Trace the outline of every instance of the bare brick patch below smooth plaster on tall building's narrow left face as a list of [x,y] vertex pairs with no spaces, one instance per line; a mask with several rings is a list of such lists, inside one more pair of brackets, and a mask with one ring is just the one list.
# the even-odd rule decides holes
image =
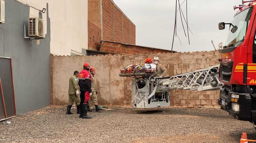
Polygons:
[[99,50],[101,40],[101,29],[88,21],[88,49]]

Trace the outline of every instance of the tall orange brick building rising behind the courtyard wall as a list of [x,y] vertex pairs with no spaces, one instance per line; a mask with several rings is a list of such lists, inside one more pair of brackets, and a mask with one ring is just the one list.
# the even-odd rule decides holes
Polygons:
[[[101,13],[100,7],[102,7],[102,27],[101,27]],[[95,24],[102,30],[102,37],[100,40],[114,41],[119,43],[136,44],[136,26],[133,22],[118,8],[118,6],[112,0],[88,0],[88,21]],[[95,35],[90,35],[91,28],[96,28],[94,25],[90,26],[88,23],[89,40]],[[102,29],[101,29],[102,28]],[[96,28],[95,31],[98,31]],[[93,32],[93,31],[92,31]],[[101,32],[101,31],[100,31]],[[101,35],[101,33],[100,33]],[[98,44],[99,40],[88,42],[88,49],[96,50],[93,44]]]

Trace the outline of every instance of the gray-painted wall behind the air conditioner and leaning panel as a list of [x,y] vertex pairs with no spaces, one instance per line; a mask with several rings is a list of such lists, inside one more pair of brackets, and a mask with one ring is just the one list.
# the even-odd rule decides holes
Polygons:
[[37,40],[24,39],[29,13],[29,6],[6,0],[5,24],[0,25],[0,56],[12,58],[17,114],[50,104],[50,18],[46,39],[37,45]]

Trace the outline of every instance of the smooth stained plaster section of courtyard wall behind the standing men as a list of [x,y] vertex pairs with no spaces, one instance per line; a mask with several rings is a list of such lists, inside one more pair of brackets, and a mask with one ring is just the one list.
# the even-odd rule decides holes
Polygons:
[[123,55],[106,56],[51,56],[51,103],[68,103],[69,78],[74,71],[81,71],[87,62],[96,69],[98,103],[107,105],[125,104],[123,97],[124,78],[119,69],[124,67]]

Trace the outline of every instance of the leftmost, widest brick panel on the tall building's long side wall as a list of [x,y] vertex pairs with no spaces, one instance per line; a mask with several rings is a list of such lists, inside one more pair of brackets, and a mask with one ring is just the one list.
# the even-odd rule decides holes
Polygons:
[[114,4],[102,0],[102,40],[114,41]]

